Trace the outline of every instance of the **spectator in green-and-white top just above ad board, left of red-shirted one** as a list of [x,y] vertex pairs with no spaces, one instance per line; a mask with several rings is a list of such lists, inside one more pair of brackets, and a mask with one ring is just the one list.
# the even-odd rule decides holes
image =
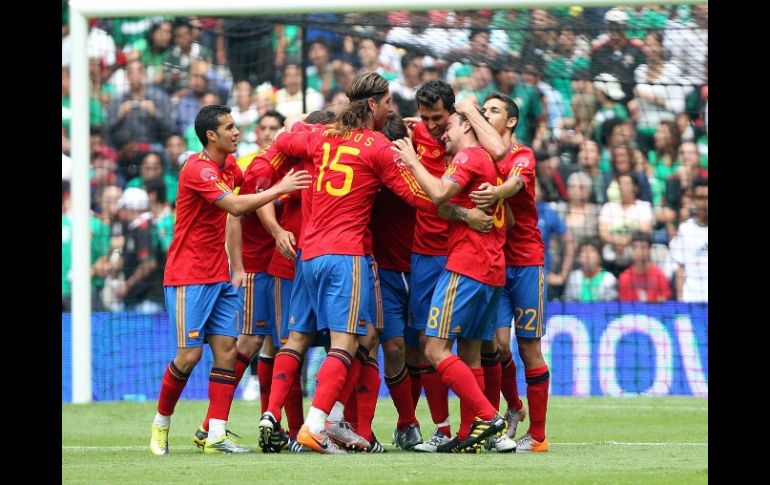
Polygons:
[[597,241],[584,242],[578,249],[580,268],[570,273],[564,292],[566,301],[614,301],[618,298],[617,279],[601,267]]

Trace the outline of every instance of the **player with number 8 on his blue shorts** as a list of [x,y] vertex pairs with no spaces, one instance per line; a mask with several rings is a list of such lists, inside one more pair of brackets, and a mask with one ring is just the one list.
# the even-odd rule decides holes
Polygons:
[[[482,183],[502,182],[497,166],[462,115],[449,117],[442,139],[454,158],[440,179],[420,163],[411,140],[396,141],[393,150],[435,204],[452,199],[458,205],[473,207],[468,197],[471,191]],[[433,292],[426,324],[425,356],[442,382],[460,397],[460,431],[446,445],[455,452],[476,452],[488,438],[505,431],[505,420],[482,391],[480,357],[481,341],[492,337],[497,302],[505,284],[502,204],[493,213],[494,227],[487,234],[449,224],[447,263]],[[455,340],[460,357],[452,354]]]

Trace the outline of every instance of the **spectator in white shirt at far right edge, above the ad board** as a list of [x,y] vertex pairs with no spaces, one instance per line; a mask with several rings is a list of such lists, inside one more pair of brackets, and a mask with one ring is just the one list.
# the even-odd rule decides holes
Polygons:
[[693,181],[695,217],[680,224],[671,241],[671,258],[678,265],[675,282],[679,301],[708,302],[708,188],[708,179]]

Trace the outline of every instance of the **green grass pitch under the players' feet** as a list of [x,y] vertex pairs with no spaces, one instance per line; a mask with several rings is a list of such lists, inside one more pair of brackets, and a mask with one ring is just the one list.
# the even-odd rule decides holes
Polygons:
[[[309,401],[305,401],[305,412]],[[228,428],[257,447],[259,402],[236,401]],[[65,484],[506,484],[707,483],[708,399],[686,397],[551,397],[548,453],[419,454],[390,445],[396,413],[380,399],[374,432],[386,454],[315,453],[203,455],[192,435],[203,401],[183,400],[172,418],[170,453],[150,453],[155,403],[62,405]],[[456,430],[459,402],[450,399]],[[418,406],[423,436],[433,432],[425,398]],[[285,418],[284,418],[285,424]],[[519,427],[526,432],[528,420]]]

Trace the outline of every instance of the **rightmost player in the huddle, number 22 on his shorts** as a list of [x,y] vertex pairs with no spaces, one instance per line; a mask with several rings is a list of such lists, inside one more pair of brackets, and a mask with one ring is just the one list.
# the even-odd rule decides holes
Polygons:
[[[472,103],[464,104],[458,105],[457,109],[464,112],[475,109],[475,106]],[[506,281],[500,299],[495,339],[482,346],[482,358],[487,363],[485,371],[490,375],[497,372],[501,375],[499,380],[494,377],[487,379],[487,397],[493,405],[499,404],[502,390],[508,404],[505,413],[508,425],[506,434],[514,438],[518,423],[524,420],[527,411],[519,399],[516,367],[510,350],[510,326],[513,321],[519,355],[524,362],[530,410],[530,427],[517,440],[516,452],[548,451],[545,418],[550,373],[540,350],[540,339],[545,335],[546,285],[543,271],[544,245],[537,228],[535,207],[535,158],[530,148],[512,142],[511,136],[519,120],[519,110],[511,98],[492,93],[484,100],[483,112],[502,138],[508,153],[499,162],[500,171],[506,180],[498,186],[483,184],[470,197],[481,208],[492,207],[500,200],[507,200],[516,221],[508,230],[505,243]],[[496,369],[498,360],[501,361],[500,371]],[[498,382],[500,387],[497,387]]]

